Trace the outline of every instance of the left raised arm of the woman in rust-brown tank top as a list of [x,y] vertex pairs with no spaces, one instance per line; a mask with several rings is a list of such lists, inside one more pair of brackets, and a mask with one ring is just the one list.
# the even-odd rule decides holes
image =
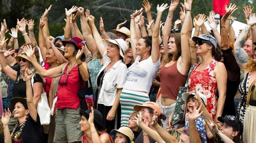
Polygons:
[[168,57],[168,40],[169,40],[168,38],[171,34],[173,14],[174,14],[178,4],[179,4],[179,0],[171,1],[169,11],[168,11],[168,16],[167,16],[165,24],[164,24],[163,45],[164,45],[165,57]]

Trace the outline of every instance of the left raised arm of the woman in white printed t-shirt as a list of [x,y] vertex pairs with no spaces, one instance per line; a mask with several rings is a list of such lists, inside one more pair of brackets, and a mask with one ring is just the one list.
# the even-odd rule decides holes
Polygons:
[[135,29],[135,17],[142,12],[143,8],[140,10],[136,10],[135,13],[131,15],[131,24],[130,24],[130,32],[131,32],[131,47],[133,50],[133,59],[136,59],[136,44],[137,44],[137,34]]

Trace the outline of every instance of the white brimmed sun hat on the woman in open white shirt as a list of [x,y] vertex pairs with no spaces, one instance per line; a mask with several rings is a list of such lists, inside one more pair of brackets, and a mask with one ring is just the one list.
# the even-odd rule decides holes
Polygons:
[[104,40],[105,47],[108,47],[109,43],[118,45],[118,47],[120,49],[120,56],[123,58],[123,61],[125,61],[125,57],[123,55],[128,50],[125,40],[123,40],[123,39],[114,39],[114,40],[106,39],[106,40]]

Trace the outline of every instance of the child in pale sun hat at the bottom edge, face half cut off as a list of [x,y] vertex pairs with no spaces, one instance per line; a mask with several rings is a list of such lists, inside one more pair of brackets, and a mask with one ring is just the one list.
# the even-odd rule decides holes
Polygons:
[[110,134],[114,143],[133,143],[134,134],[129,127],[120,127],[118,130],[112,130]]

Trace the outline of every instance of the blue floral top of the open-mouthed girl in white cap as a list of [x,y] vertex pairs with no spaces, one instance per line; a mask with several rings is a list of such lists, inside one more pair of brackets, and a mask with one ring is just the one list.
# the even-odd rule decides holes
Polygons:
[[[188,113],[189,115],[189,113]],[[187,117],[185,121],[185,130],[189,131],[189,118]],[[207,143],[206,139],[206,129],[204,128],[204,117],[200,116],[196,119],[196,130],[200,136],[202,143]]]

